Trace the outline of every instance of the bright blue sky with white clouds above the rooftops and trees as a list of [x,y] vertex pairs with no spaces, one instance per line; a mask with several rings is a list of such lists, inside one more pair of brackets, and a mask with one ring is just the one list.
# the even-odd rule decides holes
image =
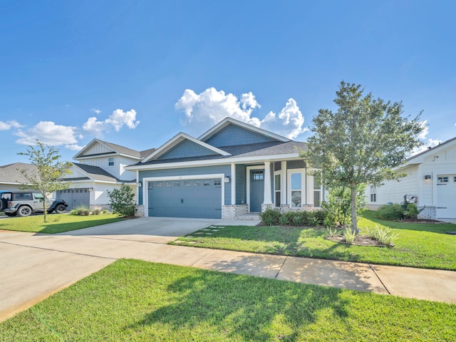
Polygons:
[[[146,150],[227,115],[304,141],[343,80],[456,136],[455,1],[0,0],[0,165]],[[287,124],[288,123],[288,124]]]

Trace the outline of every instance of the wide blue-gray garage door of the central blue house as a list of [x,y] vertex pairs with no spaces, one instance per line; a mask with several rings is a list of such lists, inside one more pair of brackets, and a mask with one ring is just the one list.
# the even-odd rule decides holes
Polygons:
[[222,180],[148,182],[149,216],[222,218]]

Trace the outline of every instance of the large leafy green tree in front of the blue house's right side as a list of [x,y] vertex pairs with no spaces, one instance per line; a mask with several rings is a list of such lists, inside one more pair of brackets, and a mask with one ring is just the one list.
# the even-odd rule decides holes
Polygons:
[[358,229],[356,192],[358,185],[381,185],[399,180],[393,168],[405,162],[415,147],[423,145],[418,136],[425,125],[403,115],[403,104],[363,95],[363,88],[341,82],[334,103],[337,111],[321,109],[313,119],[307,150],[301,157],[323,185],[348,187],[351,192],[351,229]]

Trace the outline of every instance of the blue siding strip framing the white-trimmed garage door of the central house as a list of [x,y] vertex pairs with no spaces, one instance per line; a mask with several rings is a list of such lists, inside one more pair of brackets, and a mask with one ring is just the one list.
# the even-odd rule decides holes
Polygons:
[[[144,170],[139,172],[139,182],[142,182],[143,178],[149,177],[175,177],[175,176],[197,176],[197,175],[214,175],[224,174],[225,176],[231,175],[231,165],[215,165],[206,167],[182,167],[175,169],[166,170]],[[223,180],[222,180],[223,182]],[[144,182],[143,182],[144,183]],[[225,183],[225,204],[231,204],[231,182]],[[145,186],[145,184],[143,184]],[[138,204],[142,204],[142,191],[139,192]]]

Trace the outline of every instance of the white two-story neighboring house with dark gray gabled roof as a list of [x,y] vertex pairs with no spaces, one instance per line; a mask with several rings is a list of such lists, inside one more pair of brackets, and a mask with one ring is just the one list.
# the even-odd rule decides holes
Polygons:
[[78,163],[73,163],[71,175],[63,179],[71,181],[70,189],[58,191],[56,196],[66,200],[68,209],[107,207],[108,191],[123,183],[136,193],[136,173],[125,170],[125,166],[140,162],[153,150],[137,151],[94,139],[73,157]]

